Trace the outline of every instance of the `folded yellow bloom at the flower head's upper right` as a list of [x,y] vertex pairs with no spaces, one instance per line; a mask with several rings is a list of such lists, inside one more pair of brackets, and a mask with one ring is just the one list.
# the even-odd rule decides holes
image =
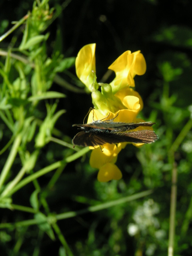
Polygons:
[[115,72],[116,77],[110,83],[112,91],[117,92],[125,86],[135,86],[134,76],[146,72],[145,58],[140,51],[126,51],[120,55],[109,67]]

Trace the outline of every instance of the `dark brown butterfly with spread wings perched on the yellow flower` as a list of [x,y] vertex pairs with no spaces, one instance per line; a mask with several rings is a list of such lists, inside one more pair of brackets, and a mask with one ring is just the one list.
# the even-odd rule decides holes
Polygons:
[[[108,116],[106,116],[107,118]],[[158,139],[153,130],[134,130],[139,126],[150,127],[153,122],[123,123],[110,120],[97,120],[89,124],[73,124],[82,130],[74,136],[72,143],[77,146],[98,146],[105,143],[116,144],[120,142],[152,143]]]

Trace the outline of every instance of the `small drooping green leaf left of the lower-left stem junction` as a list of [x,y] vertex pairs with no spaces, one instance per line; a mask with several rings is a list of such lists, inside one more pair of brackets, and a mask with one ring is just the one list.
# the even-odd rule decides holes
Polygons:
[[38,222],[42,222],[38,224],[40,230],[43,230],[52,240],[55,240],[54,232],[51,225],[47,221],[46,215],[44,215],[42,212],[38,212],[35,214],[35,219],[38,220]]

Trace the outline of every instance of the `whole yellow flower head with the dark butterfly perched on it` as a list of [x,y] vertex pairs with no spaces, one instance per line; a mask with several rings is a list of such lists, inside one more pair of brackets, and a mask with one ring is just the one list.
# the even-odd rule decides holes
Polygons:
[[[88,123],[96,120],[106,122],[114,118],[112,122],[137,123],[143,120],[136,118],[138,112],[143,108],[141,96],[130,87],[134,87],[134,76],[146,72],[146,62],[140,51],[126,51],[120,55],[110,66],[116,74],[110,84],[97,83],[95,64],[96,44],[84,46],[76,58],[76,74],[78,78],[92,92],[92,110],[88,116]],[[100,86],[101,90],[98,90]],[[106,117],[107,116],[107,117]],[[134,130],[152,129],[151,127],[138,127]],[[119,180],[122,173],[115,165],[117,156],[127,142],[118,144],[104,144],[101,147],[90,147],[90,166],[98,168],[98,180],[106,182]],[[143,143],[134,146],[141,146]]]

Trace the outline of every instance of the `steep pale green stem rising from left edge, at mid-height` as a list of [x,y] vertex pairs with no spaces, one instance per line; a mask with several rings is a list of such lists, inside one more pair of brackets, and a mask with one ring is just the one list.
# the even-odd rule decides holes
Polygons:
[[10,154],[6,160],[6,163],[4,165],[4,168],[0,174],[0,189],[2,187],[2,185],[4,184],[4,181],[10,171],[10,168],[14,162],[14,159],[16,157],[16,154],[18,152],[18,148],[20,146],[20,143],[21,143],[21,139],[22,139],[22,136],[21,134],[18,134],[13,142],[13,145],[12,145],[12,148],[11,148],[11,151],[10,151]]

